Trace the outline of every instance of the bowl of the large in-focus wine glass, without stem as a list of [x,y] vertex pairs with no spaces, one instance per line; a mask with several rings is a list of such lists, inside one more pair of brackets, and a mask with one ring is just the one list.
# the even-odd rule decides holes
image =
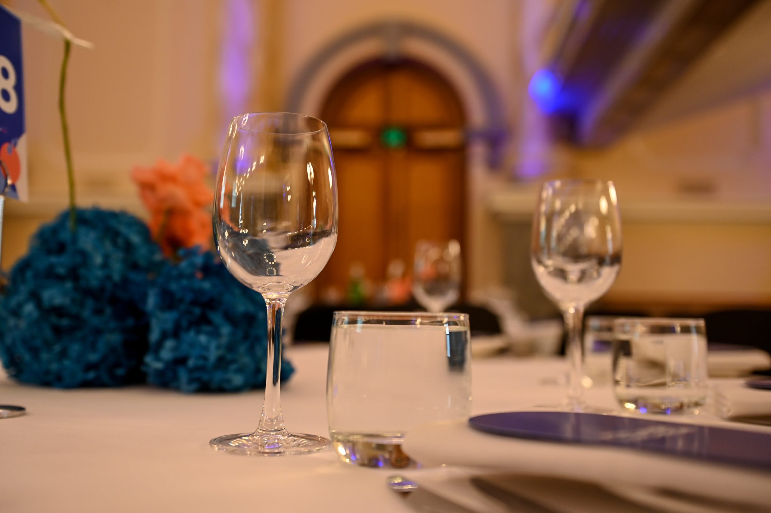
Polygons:
[[[293,190],[294,188],[294,190]],[[228,270],[263,294],[311,282],[337,241],[332,147],[310,116],[258,113],[231,124],[214,228]]]

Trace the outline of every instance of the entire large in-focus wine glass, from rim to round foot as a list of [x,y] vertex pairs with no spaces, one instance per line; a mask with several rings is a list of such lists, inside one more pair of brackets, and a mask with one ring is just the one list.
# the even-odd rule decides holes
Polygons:
[[321,451],[327,438],[284,428],[279,386],[284,304],[322,271],[337,241],[335,161],[326,124],[292,113],[236,116],[217,172],[214,231],[227,269],[268,306],[268,376],[257,430],[210,444],[250,455]]

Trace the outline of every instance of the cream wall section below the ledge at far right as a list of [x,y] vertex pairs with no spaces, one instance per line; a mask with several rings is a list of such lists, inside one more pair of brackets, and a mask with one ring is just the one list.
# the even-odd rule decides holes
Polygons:
[[626,223],[621,273],[605,299],[681,310],[769,305],[771,224]]

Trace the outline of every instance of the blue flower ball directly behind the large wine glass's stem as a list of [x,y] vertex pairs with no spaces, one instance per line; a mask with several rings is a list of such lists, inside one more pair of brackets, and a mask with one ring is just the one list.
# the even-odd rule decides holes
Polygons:
[[[235,392],[265,385],[268,323],[264,299],[237,282],[210,252],[180,252],[147,300],[147,380],[183,392]],[[294,368],[281,362],[281,381]]]

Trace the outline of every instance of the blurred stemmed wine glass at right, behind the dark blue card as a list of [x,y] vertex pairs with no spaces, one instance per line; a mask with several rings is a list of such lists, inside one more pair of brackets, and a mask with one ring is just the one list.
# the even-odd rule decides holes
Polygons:
[[621,216],[613,182],[545,183],[533,219],[530,263],[565,319],[570,363],[565,407],[589,410],[581,385],[584,309],[608,292],[621,268]]

